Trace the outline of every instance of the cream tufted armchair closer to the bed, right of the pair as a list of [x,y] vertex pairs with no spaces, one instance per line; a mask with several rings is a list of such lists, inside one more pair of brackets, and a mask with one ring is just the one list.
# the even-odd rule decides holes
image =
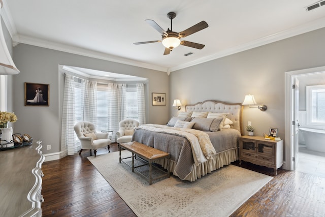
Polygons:
[[131,142],[134,129],[139,127],[139,121],[135,119],[124,119],[119,122],[119,130],[116,132],[117,143]]

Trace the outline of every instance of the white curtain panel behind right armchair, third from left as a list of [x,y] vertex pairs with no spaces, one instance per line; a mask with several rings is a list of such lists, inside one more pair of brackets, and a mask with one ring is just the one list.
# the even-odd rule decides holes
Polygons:
[[[125,93],[126,84],[108,84],[108,108],[109,108],[109,126],[108,128],[117,132],[118,123],[125,119]],[[116,140],[113,133],[112,141]]]

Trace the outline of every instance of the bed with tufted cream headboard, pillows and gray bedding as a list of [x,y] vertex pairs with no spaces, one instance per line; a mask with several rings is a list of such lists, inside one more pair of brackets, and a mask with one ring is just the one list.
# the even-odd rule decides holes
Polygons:
[[[206,100],[186,105],[185,112],[172,117],[167,126],[140,126],[132,141],[170,153],[170,171],[182,180],[195,181],[238,160],[241,114],[241,103]],[[156,163],[165,169],[168,165],[165,159]]]

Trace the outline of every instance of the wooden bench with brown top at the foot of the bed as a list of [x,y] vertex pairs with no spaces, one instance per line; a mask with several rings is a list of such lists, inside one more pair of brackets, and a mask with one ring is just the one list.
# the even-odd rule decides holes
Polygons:
[[[125,149],[128,150],[130,152],[132,152],[132,157],[127,157],[127,158],[121,158],[121,150]],[[169,172],[169,158],[170,158],[170,154],[158,149],[155,149],[153,147],[149,147],[145,144],[142,144],[140,142],[127,142],[127,143],[120,143],[119,144],[119,152],[120,152],[120,158],[119,161],[120,163],[123,162],[126,165],[132,167],[132,172],[137,171],[139,174],[141,174],[143,177],[145,177],[148,181],[149,181],[149,185],[152,184],[153,180],[162,178],[162,177],[170,177],[170,172]],[[134,166],[134,160],[136,159],[136,157],[140,157],[140,160],[143,160],[146,164],[142,164],[140,166]],[[123,159],[128,159],[128,158],[132,158],[132,165],[127,164],[125,161],[122,161]],[[156,160],[160,160],[160,159],[167,159],[168,163],[167,163],[167,172],[162,170],[159,167],[156,167],[154,165],[152,165],[152,162],[156,161]],[[135,170],[135,168],[138,167],[143,167],[149,165],[149,178],[146,177],[144,174],[142,174],[140,171]],[[160,175],[158,177],[152,178],[152,167],[155,167],[156,169],[164,172],[165,174]]]

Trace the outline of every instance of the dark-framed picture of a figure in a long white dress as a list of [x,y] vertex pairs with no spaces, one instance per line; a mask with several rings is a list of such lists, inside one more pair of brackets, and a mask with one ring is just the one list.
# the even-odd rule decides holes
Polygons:
[[50,106],[50,85],[25,82],[25,106]]

